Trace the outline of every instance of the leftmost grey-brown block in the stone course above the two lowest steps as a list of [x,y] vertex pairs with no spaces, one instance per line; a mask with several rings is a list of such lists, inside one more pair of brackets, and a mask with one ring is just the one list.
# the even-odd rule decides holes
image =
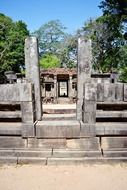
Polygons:
[[21,137],[0,137],[0,148],[25,148],[27,140]]

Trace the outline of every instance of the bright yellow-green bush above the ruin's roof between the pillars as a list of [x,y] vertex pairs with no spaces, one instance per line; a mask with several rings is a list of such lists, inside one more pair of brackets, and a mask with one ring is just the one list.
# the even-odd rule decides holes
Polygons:
[[45,54],[40,59],[40,66],[44,69],[60,67],[60,60],[57,58],[56,55]]

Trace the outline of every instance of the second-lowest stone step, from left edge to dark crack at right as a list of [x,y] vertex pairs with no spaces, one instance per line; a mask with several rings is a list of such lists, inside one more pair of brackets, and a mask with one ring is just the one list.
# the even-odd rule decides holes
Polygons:
[[101,151],[84,151],[79,149],[0,149],[0,157],[80,158],[101,156]]

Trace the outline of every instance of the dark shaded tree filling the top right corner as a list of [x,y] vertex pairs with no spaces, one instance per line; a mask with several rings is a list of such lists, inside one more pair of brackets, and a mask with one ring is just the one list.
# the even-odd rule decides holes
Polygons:
[[[103,11],[103,17],[106,18],[104,22],[110,34],[107,39],[110,44],[106,51],[109,60],[107,66],[126,73],[127,0],[103,0],[99,7]],[[125,75],[122,78],[125,79]]]

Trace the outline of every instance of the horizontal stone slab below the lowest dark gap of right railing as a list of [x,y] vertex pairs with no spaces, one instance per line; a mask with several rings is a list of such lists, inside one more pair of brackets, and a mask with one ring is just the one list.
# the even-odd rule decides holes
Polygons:
[[97,135],[127,135],[127,122],[96,122]]

